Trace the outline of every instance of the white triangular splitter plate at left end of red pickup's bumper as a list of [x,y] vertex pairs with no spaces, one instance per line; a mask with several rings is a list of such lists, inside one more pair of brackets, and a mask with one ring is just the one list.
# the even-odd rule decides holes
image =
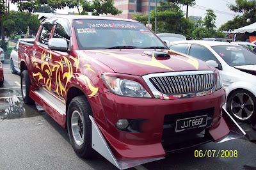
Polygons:
[[141,164],[153,162],[155,160],[161,160],[164,158],[141,158],[136,160],[124,160],[116,158],[115,155],[113,155],[111,149],[109,148],[108,143],[104,139],[104,136],[100,132],[100,129],[97,126],[96,122],[93,120],[93,117],[89,116],[89,118],[92,121],[92,148],[100,153],[102,157],[106,158],[114,166],[118,167],[118,169],[127,169],[129,167],[139,166]]

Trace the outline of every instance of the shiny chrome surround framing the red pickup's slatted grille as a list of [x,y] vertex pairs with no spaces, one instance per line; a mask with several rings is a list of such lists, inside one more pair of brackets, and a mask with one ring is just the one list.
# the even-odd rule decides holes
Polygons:
[[[207,79],[207,77],[209,77],[209,79]],[[160,98],[160,99],[200,97],[204,95],[210,95],[216,89],[214,85],[214,83],[216,82],[215,76],[212,70],[151,73],[151,74],[142,76],[142,78],[147,83],[154,97]],[[163,91],[163,93],[156,89],[156,87],[154,86],[154,84],[152,84],[150,79],[152,79],[152,82],[154,82],[157,88]],[[189,86],[189,84],[191,84],[192,87]],[[209,88],[212,87],[212,88],[209,89],[206,87],[209,87]],[[207,89],[207,90],[204,90],[204,89]],[[165,94],[166,91],[173,94]]]

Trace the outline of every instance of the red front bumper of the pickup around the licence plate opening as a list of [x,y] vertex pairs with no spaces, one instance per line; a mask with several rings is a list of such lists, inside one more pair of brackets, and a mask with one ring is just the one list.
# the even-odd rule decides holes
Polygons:
[[[106,124],[102,123],[102,118],[100,121],[95,118],[95,121],[117,158],[164,157],[166,151],[162,142],[166,115],[212,108],[212,120],[207,128],[207,134],[210,134],[211,140],[218,141],[229,133],[227,124],[220,116],[221,107],[225,102],[223,88],[204,97],[177,100],[120,97],[111,92],[103,93],[99,98],[102,110],[99,109],[99,105],[94,108],[92,104],[93,114],[95,111],[104,112]],[[145,120],[141,125],[142,132],[132,133],[118,130],[115,124],[121,118]],[[179,133],[176,134],[177,136],[179,137]]]

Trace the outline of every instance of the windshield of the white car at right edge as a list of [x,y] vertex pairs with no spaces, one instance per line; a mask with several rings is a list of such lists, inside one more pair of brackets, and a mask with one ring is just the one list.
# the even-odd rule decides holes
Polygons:
[[240,46],[212,47],[230,66],[256,65],[256,54]]

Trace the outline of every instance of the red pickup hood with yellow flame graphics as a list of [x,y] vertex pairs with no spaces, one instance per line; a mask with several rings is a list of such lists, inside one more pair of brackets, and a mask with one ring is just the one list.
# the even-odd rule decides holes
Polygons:
[[[160,51],[160,50],[158,50]],[[167,52],[166,50],[161,50]],[[147,75],[148,73],[214,70],[204,61],[182,53],[168,51],[170,58],[157,58],[148,49],[79,50],[79,56],[90,56],[109,66],[116,73]],[[147,53],[147,54],[145,54]],[[212,69],[211,69],[212,68]]]

